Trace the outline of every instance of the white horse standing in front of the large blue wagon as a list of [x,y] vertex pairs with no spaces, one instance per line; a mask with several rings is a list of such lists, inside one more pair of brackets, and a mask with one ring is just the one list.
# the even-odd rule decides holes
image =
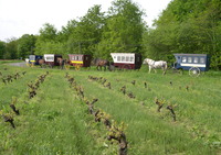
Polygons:
[[148,64],[149,65],[149,73],[151,71],[151,69],[155,70],[155,73],[157,73],[157,68],[161,68],[164,70],[164,75],[166,74],[166,70],[167,70],[167,62],[165,60],[158,60],[158,62],[155,62],[150,58],[145,58],[144,59],[144,63],[143,64]]

